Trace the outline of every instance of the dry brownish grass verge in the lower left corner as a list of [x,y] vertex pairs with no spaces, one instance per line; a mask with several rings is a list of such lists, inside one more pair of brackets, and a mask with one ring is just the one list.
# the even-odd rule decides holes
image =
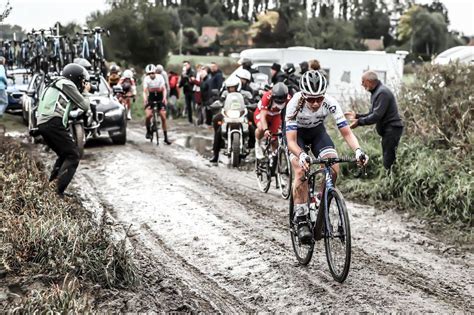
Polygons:
[[42,164],[18,142],[1,137],[0,149],[0,269],[6,287],[22,288],[3,292],[0,307],[84,312],[91,309],[89,288],[139,283],[125,239],[112,241],[105,222],[94,223],[77,200],[59,199]]

